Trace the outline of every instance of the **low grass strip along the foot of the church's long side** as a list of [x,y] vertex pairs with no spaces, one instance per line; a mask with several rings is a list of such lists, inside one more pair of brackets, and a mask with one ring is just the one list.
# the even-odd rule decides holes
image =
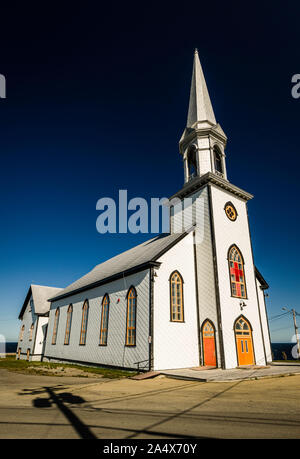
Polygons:
[[[136,371],[125,371],[114,368],[88,367],[84,365],[76,365],[73,363],[52,363],[52,362],[27,362],[27,360],[16,360],[14,356],[9,356],[0,359],[0,369],[15,371],[23,374],[39,374],[47,376],[72,376],[67,374],[68,368],[80,370],[81,374],[76,374],[78,377],[88,377],[85,373],[94,373],[103,378],[128,378],[137,374]],[[49,370],[60,370],[51,373]],[[65,374],[66,373],[66,374]]]

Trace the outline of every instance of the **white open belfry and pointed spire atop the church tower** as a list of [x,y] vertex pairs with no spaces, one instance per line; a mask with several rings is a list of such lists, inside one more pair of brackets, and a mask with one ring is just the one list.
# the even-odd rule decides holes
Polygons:
[[184,160],[185,183],[207,172],[227,179],[224,153],[226,142],[227,137],[215,118],[196,49],[187,124],[179,142],[179,151]]

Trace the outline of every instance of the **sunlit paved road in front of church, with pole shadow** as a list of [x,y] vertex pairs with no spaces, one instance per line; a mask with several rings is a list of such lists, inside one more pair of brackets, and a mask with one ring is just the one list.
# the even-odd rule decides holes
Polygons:
[[0,438],[300,438],[300,375],[82,380],[0,370]]

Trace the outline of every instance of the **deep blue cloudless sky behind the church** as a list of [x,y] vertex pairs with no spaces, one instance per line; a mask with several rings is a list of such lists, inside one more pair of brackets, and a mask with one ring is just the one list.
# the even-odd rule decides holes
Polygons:
[[[31,283],[66,286],[151,237],[100,235],[96,202],[119,189],[149,199],[181,188],[195,47],[228,136],[228,178],[255,195],[250,224],[271,286],[269,315],[300,312],[300,99],[291,97],[299,2],[207,3],[1,6],[0,333],[8,341]],[[291,325],[290,317],[271,322],[272,340],[290,341]]]

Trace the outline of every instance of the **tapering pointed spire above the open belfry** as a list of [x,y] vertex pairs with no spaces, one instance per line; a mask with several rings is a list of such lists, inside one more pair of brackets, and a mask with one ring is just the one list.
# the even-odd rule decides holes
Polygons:
[[217,124],[196,48],[187,127],[192,127],[197,121],[209,121],[212,124]]

